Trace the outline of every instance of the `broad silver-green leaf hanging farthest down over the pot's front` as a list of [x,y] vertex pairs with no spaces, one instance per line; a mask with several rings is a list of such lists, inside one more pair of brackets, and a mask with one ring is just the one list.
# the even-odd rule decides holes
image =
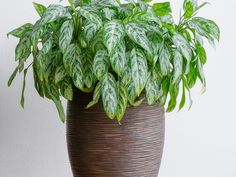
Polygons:
[[118,105],[118,94],[116,80],[110,73],[106,74],[103,79],[102,101],[107,116],[110,119],[114,119]]

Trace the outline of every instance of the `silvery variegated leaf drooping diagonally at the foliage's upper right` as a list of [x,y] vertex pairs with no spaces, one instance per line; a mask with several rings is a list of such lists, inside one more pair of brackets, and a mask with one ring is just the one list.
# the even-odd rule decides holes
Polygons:
[[190,62],[192,60],[193,54],[191,50],[191,46],[188,42],[188,40],[181,34],[175,32],[173,36],[173,43],[179,50],[179,52],[184,56],[184,58],[187,60],[187,66],[186,66],[186,73],[190,70]]

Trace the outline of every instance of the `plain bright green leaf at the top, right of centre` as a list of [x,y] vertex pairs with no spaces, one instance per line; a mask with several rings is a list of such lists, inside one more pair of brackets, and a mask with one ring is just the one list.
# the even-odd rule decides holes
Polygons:
[[172,12],[169,2],[155,3],[153,4],[152,9],[157,15],[160,16],[165,16]]

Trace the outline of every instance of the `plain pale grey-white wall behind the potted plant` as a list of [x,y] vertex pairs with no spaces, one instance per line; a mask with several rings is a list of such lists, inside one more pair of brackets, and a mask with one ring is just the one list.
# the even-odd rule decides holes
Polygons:
[[[34,90],[27,77],[26,108],[19,106],[22,76],[11,88],[17,40],[6,33],[34,22],[32,0],[0,2],[0,177],[72,177],[65,139],[54,105]],[[58,3],[59,0],[38,0]],[[206,45],[207,92],[193,92],[190,111],[166,115],[166,143],[159,177],[236,177],[236,1],[209,0],[200,15],[221,28],[217,49]],[[173,1],[176,19],[182,1]]]

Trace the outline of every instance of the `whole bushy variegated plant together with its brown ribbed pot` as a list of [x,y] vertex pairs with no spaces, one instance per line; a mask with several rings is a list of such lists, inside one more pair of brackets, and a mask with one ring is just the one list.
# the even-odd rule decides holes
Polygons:
[[175,23],[169,2],[34,3],[39,20],[8,34],[19,38],[8,85],[23,72],[21,105],[31,67],[37,92],[55,103],[62,122],[61,97],[68,100],[74,177],[157,176],[164,112],[182,109],[198,79],[205,88],[203,38],[213,45],[220,38],[215,22],[196,16],[205,5],[185,0]]

